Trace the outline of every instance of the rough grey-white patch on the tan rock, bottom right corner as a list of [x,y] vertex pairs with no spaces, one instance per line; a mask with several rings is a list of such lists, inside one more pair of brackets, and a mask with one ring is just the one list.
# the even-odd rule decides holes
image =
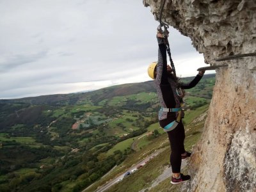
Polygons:
[[[256,135],[251,134],[249,120],[245,129],[235,132],[225,154],[224,173],[227,191],[256,189]],[[243,127],[244,128],[244,127]]]

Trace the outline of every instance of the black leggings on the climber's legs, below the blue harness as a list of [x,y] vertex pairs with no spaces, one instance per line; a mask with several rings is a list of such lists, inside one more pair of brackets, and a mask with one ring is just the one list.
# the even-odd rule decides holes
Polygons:
[[[160,125],[162,127],[164,125],[164,120],[161,120]],[[167,121],[166,121],[167,123]],[[166,124],[167,125],[167,124]],[[181,154],[186,152],[184,148],[184,140],[185,140],[185,129],[182,122],[180,122],[175,129],[172,131],[168,131],[168,138],[171,145],[171,155],[170,155],[170,163],[172,165],[173,173],[180,173],[181,166]]]

